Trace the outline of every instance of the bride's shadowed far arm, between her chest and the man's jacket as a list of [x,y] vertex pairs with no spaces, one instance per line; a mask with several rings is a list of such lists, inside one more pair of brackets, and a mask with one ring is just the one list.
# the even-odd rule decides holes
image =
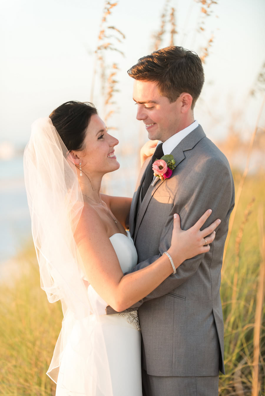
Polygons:
[[113,197],[106,194],[100,194],[102,201],[106,202],[111,212],[121,225],[127,229],[129,223],[129,214],[132,203],[132,198],[127,197]]

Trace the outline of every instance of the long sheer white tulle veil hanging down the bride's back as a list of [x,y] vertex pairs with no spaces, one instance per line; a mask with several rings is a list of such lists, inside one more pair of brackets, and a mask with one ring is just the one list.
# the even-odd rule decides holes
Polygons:
[[[83,282],[83,263],[74,238],[83,196],[77,169],[48,117],[32,125],[24,153],[24,174],[40,284],[50,303],[61,300],[64,315],[47,374],[57,382],[59,370],[65,370],[65,394],[109,396],[112,392],[104,337]],[[60,367],[70,343],[75,352],[71,364],[82,362],[79,378],[71,378],[69,367]]]

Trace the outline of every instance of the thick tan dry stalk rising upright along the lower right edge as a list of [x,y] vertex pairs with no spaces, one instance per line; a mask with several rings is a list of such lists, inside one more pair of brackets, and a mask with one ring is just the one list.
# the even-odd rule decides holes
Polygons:
[[259,285],[257,288],[257,302],[255,310],[255,324],[254,324],[254,337],[253,337],[253,371],[252,371],[252,393],[251,396],[258,396],[260,383],[259,383],[259,339],[260,329],[262,324],[262,309],[264,297],[264,280],[265,280],[265,235],[264,235],[264,221],[263,221],[263,206],[259,207],[258,213],[259,220],[259,235],[260,235],[260,252],[261,264],[259,268]]

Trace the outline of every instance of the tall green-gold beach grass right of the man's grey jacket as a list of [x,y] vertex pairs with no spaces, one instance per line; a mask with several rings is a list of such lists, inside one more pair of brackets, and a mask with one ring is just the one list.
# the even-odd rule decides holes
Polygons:
[[[236,187],[242,175],[234,174]],[[220,395],[265,394],[264,173],[246,177],[221,282],[226,375]],[[261,225],[262,223],[262,225]],[[258,351],[257,351],[258,349]],[[255,391],[253,393],[253,391]]]

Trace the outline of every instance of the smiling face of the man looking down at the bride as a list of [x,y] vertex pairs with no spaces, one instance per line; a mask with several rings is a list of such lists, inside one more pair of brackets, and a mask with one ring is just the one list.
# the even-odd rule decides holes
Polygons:
[[156,82],[134,80],[133,100],[137,105],[136,118],[144,122],[149,139],[164,142],[182,129],[179,99],[170,103],[167,97],[160,95]]

